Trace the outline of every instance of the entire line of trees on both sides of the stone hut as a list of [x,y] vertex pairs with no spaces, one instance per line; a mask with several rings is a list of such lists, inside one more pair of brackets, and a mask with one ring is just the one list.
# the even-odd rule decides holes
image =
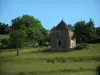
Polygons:
[[[50,31],[45,29],[41,21],[31,15],[23,15],[11,20],[12,25],[0,23],[0,34],[8,34],[9,38],[0,39],[2,48],[22,48],[50,45]],[[68,24],[73,30],[77,43],[100,43],[100,27],[94,21],[78,21]]]

